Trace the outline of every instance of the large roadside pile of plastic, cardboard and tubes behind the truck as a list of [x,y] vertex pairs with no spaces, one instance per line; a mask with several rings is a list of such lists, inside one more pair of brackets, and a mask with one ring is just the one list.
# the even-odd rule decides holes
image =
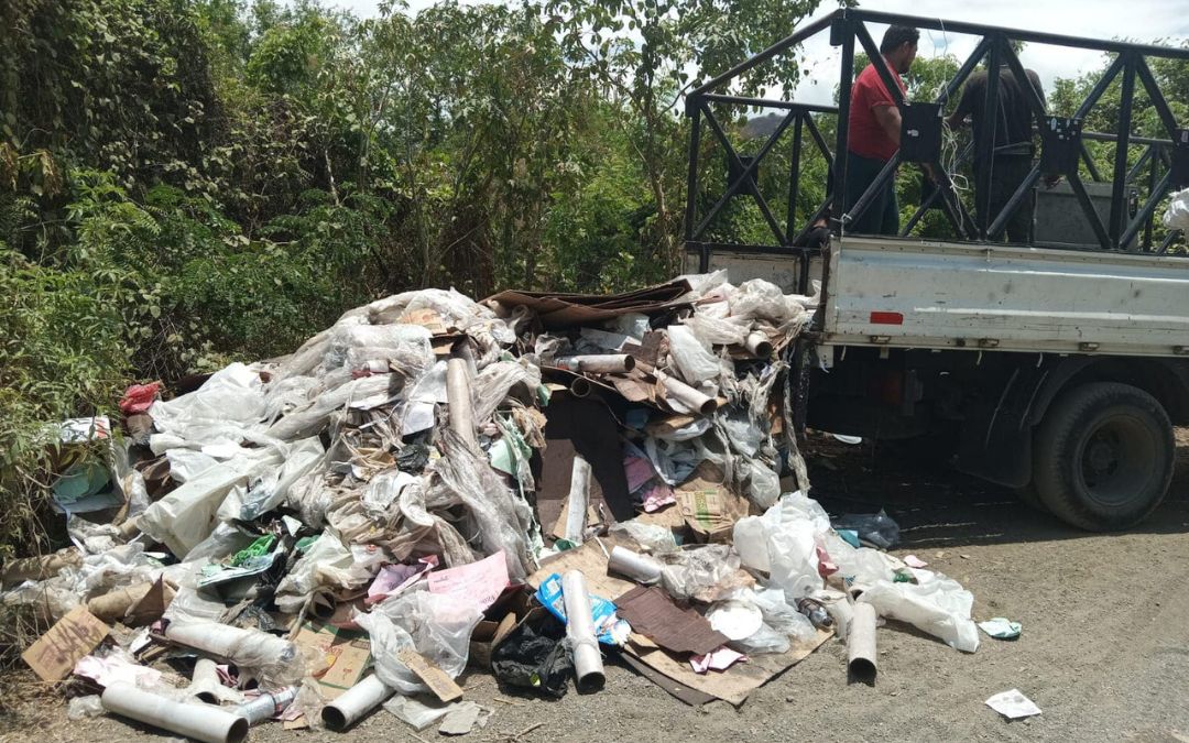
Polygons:
[[[611,296],[427,289],[294,354],[128,390],[70,421],[73,546],[15,560],[25,651],[102,711],[201,741],[380,705],[465,733],[455,682],[560,697],[622,660],[690,704],[747,694],[831,636],[874,679],[899,619],[979,644],[973,597],[807,496],[788,359],[817,307],[725,272]],[[785,478],[781,473],[787,472]],[[188,675],[189,679],[182,676]]]

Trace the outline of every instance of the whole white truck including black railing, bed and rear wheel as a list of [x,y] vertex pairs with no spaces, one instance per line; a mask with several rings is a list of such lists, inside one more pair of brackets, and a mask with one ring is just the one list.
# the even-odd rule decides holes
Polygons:
[[[855,52],[862,49],[893,92],[869,23],[976,34],[974,52],[937,103],[956,94],[987,61],[984,111],[998,107],[999,70],[1026,80],[1012,42],[1072,46],[1113,53],[1114,59],[1070,119],[1051,117],[1024,86],[1040,139],[1040,158],[999,214],[988,214],[992,169],[977,174],[973,218],[951,188],[951,172],[931,160],[937,188],[898,238],[851,235],[848,225],[895,176],[900,153],[845,213],[847,141]],[[769,63],[810,37],[830,34],[842,50],[838,105],[818,106],[722,93],[731,81]],[[819,310],[792,352],[795,424],[881,439],[932,436],[930,446],[952,454],[958,468],[1015,489],[1021,498],[1086,529],[1128,528],[1164,497],[1175,458],[1174,424],[1189,423],[1189,259],[1168,254],[1176,233],[1153,244],[1157,206],[1172,189],[1189,185],[1189,131],[1182,128],[1147,59],[1189,59],[1189,49],[1086,39],[937,18],[839,10],[814,20],[686,96],[691,119],[685,214],[687,264],[699,271],[731,270],[731,279],[773,278],[809,294],[820,281]],[[1120,80],[1119,120],[1113,132],[1081,132],[1081,120]],[[1147,94],[1168,139],[1132,134],[1137,83]],[[1028,95],[1031,94],[1031,95]],[[741,156],[715,115],[716,107],[784,111],[775,131]],[[904,109],[902,109],[904,111]],[[837,115],[831,151],[818,126]],[[992,162],[995,118],[962,157],[980,152]],[[726,152],[730,175],[711,200],[699,191],[709,159],[703,130]],[[765,157],[792,131],[784,222],[756,187]],[[1063,138],[1053,132],[1061,131]],[[1072,133],[1072,134],[1070,134]],[[804,146],[829,164],[826,196],[798,219]],[[1080,175],[1084,164],[1102,181],[1084,140],[1115,144],[1107,219],[1096,212]],[[1128,147],[1140,145],[1128,163]],[[956,166],[956,164],[955,164]],[[1147,172],[1144,174],[1144,169]],[[1093,231],[1095,245],[1055,250],[1000,241],[1009,218],[1043,175],[1068,180]],[[1146,200],[1128,208],[1128,183],[1146,177]],[[1103,187],[1105,188],[1105,187]],[[723,208],[750,197],[772,232],[767,244],[707,240]],[[837,202],[837,203],[836,203]],[[912,238],[925,212],[939,206],[957,240]],[[832,207],[832,208],[831,208]],[[814,222],[832,214],[825,248],[797,247]]]

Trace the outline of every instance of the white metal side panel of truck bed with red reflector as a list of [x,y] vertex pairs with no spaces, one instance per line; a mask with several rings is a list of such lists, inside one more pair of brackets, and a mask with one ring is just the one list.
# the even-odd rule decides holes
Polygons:
[[829,265],[830,345],[1189,354],[1187,258],[847,237]]

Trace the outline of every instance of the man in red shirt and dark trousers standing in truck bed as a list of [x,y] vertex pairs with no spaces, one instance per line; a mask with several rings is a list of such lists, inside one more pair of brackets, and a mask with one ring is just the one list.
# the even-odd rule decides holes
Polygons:
[[[880,43],[880,53],[897,75],[900,93],[906,88],[900,75],[917,58],[920,32],[908,26],[891,26]],[[887,162],[900,149],[900,109],[883,80],[868,64],[850,88],[850,127],[847,137],[845,212],[858,202]],[[897,234],[900,231],[900,204],[895,197],[895,178],[880,188],[860,218],[845,227],[858,234]]]

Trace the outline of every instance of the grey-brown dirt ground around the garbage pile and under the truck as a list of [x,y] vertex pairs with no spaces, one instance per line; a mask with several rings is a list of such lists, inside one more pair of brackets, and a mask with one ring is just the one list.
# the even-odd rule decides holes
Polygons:
[[[737,710],[722,701],[687,707],[615,662],[603,692],[571,691],[559,701],[502,693],[490,676],[470,674],[461,679],[467,697],[495,716],[465,739],[1189,741],[1189,429],[1178,432],[1169,498],[1119,535],[1077,531],[1006,490],[912,458],[822,437],[813,443],[813,495],[831,514],[885,508],[901,525],[897,554],[916,554],[958,579],[975,594],[976,618],[1017,619],[1023,636],[983,636],[979,651],[965,655],[888,625],[879,631],[874,687],[848,685],[844,647],[830,641]],[[1008,722],[983,705],[1009,688],[1044,713]],[[49,690],[25,697],[0,717],[0,739],[162,739],[107,718],[71,723]],[[433,728],[419,735],[380,711],[344,735],[270,724],[251,739],[440,737]]]

